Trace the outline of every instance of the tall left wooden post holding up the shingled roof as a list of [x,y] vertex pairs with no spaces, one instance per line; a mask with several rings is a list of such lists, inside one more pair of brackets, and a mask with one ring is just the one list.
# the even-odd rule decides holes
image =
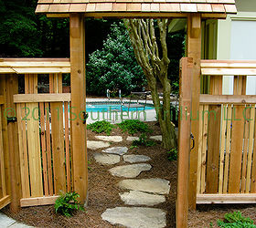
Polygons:
[[[86,202],[88,169],[86,151],[85,111],[85,40],[83,14],[70,14],[70,64],[71,64],[71,150],[74,191],[80,201]],[[72,113],[71,113],[72,112]]]

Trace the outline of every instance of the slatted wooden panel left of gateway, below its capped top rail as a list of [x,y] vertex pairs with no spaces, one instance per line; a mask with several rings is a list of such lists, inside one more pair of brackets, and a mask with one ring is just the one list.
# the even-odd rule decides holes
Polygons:
[[18,125],[21,206],[54,203],[72,189],[69,105],[62,75],[49,74],[49,93],[37,94],[37,74],[25,75],[25,94],[14,95]]

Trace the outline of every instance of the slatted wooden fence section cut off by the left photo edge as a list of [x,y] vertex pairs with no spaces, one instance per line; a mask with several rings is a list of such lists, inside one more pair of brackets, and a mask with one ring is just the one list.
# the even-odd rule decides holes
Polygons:
[[7,192],[7,181],[8,181],[8,173],[7,166],[8,160],[6,158],[6,153],[4,151],[3,146],[3,119],[4,117],[4,96],[0,96],[0,209],[5,207],[7,204],[11,202],[11,197]]

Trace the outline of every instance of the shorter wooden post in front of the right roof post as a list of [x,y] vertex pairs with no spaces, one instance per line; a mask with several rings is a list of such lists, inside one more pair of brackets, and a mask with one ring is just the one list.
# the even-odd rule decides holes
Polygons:
[[179,79],[179,128],[178,128],[178,165],[176,195],[176,227],[187,227],[188,211],[188,173],[191,132],[191,83],[193,59],[181,59],[182,72]]

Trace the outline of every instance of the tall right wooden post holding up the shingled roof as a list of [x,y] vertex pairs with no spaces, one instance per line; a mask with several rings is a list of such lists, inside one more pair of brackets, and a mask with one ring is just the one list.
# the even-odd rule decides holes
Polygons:
[[200,59],[201,59],[201,16],[189,15],[187,18],[187,57],[193,58],[191,132],[195,138],[195,147],[190,152],[189,168],[189,208],[196,209],[197,202],[197,157],[199,136],[199,95],[200,95]]

